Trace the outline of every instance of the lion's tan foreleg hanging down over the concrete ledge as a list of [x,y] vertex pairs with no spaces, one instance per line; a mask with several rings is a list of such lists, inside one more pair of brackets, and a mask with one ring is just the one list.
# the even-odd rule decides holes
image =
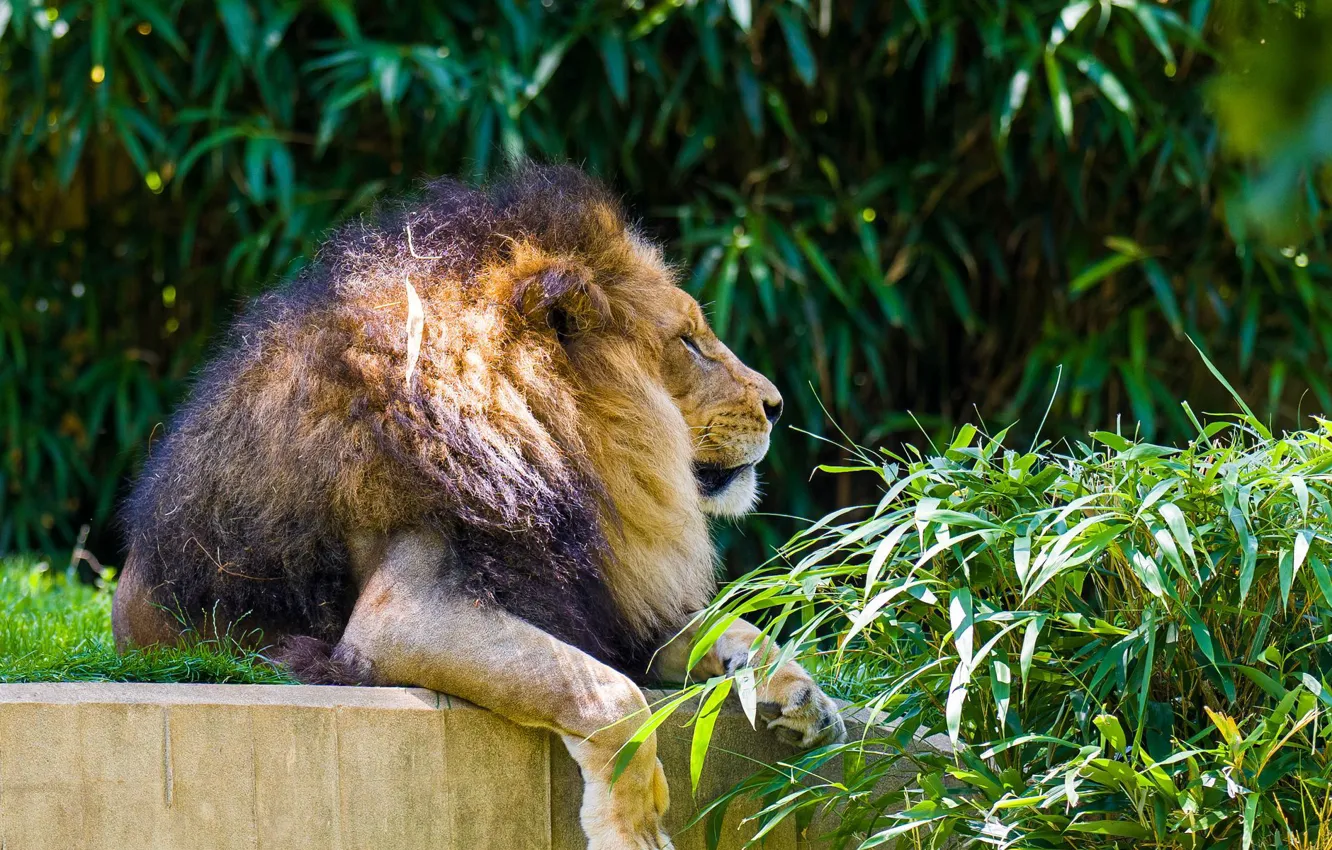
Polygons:
[[432,534],[377,550],[336,653],[381,685],[418,685],[561,735],[583,774],[590,850],[659,850],[669,795],[657,742],[645,741],[610,782],[615,755],[647,718],[631,679],[530,624],[458,598],[441,580],[448,549]]

